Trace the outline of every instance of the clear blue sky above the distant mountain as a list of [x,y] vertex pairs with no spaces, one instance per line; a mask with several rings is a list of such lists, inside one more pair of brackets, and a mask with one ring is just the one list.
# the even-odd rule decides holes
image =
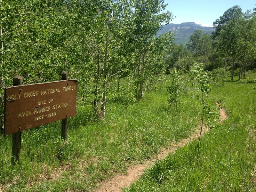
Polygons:
[[170,23],[196,22],[202,26],[212,26],[213,21],[230,7],[238,5],[242,12],[252,10],[255,0],[164,0],[169,4],[166,10],[172,12],[173,20]]

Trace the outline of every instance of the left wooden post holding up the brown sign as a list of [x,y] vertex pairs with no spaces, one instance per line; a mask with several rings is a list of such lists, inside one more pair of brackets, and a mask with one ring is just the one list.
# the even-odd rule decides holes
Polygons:
[[[13,77],[13,86],[21,85],[21,84],[22,84],[21,76]],[[20,164],[20,141],[21,141],[20,131],[17,133],[12,133],[12,165],[13,166],[16,164],[16,162]]]

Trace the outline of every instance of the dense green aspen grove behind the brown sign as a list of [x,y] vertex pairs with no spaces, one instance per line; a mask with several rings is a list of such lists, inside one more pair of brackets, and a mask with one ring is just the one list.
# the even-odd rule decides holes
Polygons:
[[172,18],[165,8],[164,1],[154,0],[4,1],[1,98],[3,87],[10,86],[15,75],[23,77],[23,84],[31,84],[60,80],[61,72],[67,71],[69,79],[78,79],[78,102],[93,102],[103,114],[106,98],[112,94],[111,78],[132,76],[136,70],[132,82],[153,84],[154,77],[163,74],[163,58],[173,36],[155,35]]

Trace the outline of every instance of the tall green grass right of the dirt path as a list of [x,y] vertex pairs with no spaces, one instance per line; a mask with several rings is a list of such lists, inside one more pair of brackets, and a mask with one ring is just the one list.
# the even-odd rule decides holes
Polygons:
[[229,119],[197,141],[157,162],[124,191],[255,191],[256,92],[253,84],[226,83],[212,100]]

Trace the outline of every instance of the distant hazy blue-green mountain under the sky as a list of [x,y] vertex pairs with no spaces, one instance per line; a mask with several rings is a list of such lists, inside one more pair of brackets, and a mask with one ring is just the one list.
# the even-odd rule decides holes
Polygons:
[[184,22],[181,24],[170,23],[164,25],[163,29],[160,29],[156,36],[160,36],[161,34],[172,31],[172,33],[174,33],[175,35],[175,40],[173,42],[176,44],[183,43],[184,45],[186,45],[189,41],[190,36],[193,35],[194,31],[196,31],[197,29],[201,29],[203,34],[212,34],[213,31],[212,27],[203,27],[194,22]]

